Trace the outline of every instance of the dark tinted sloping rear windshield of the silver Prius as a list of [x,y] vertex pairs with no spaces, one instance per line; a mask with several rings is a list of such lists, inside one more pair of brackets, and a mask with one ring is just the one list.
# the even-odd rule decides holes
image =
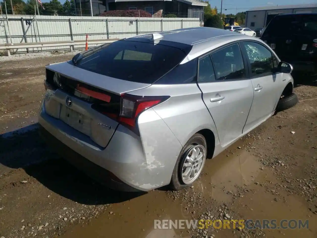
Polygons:
[[113,78],[152,84],[186,55],[171,46],[121,40],[81,59],[76,66]]

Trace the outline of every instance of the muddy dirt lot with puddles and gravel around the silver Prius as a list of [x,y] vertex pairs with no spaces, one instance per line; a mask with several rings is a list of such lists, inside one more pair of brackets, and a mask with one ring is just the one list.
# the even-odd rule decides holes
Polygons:
[[[191,188],[120,193],[87,178],[38,137],[44,66],[71,57],[0,61],[0,237],[317,237],[316,86],[296,87],[294,108],[208,160]],[[153,225],[154,219],[200,218],[302,219],[309,228]]]

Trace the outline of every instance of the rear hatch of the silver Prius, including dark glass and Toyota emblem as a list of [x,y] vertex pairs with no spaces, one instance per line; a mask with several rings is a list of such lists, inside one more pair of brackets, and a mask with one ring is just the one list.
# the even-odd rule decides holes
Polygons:
[[175,47],[129,39],[105,45],[85,57],[77,55],[69,62],[48,65],[46,113],[106,147],[120,123],[122,97],[150,86],[190,50],[191,46],[184,44]]

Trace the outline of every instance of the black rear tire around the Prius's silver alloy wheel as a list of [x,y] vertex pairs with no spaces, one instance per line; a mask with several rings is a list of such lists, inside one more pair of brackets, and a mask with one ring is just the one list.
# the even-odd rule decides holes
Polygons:
[[[184,160],[185,160],[185,156],[183,156],[183,155],[195,145],[202,145],[205,149],[205,156],[207,155],[207,142],[206,142],[205,137],[201,134],[193,135],[188,140],[188,142],[184,145],[183,149],[181,150],[181,152],[178,155],[178,158],[177,158],[174,170],[173,170],[173,174],[171,177],[171,183],[170,183],[171,190],[180,190],[182,188],[191,186],[192,183],[184,184],[184,182],[182,181],[182,179],[181,179],[181,176],[182,176],[181,166],[183,165]],[[195,181],[193,181],[193,182],[195,182]]]

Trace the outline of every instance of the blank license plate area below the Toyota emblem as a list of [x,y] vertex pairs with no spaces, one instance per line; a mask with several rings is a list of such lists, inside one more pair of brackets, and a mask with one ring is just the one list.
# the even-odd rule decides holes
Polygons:
[[91,135],[91,118],[88,116],[62,105],[60,119],[81,133],[84,133],[87,136]]

